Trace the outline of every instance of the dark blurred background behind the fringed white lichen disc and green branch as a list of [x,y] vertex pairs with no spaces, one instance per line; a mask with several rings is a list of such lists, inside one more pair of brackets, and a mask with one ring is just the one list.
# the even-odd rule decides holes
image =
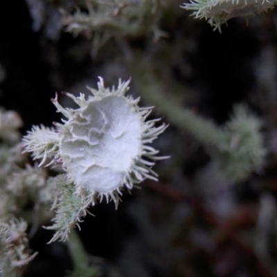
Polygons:
[[[262,120],[268,150],[259,174],[222,179],[204,145],[166,116],[170,127],[155,143],[171,159],[156,167],[160,181],[125,193],[117,211],[113,204],[91,208],[96,216],[85,218],[80,238],[100,276],[275,276],[276,10],[248,26],[231,19],[220,34],[189,17],[182,1],[128,2],[1,1],[1,106],[20,114],[25,134],[59,120],[50,101],[55,91],[85,92],[99,75],[107,85],[131,76],[130,93],[156,105],[155,116],[165,113],[151,89],[142,90],[148,83],[217,125],[234,104],[247,104]],[[30,240],[39,255],[24,277],[62,277],[72,269],[65,244],[46,244],[51,235],[39,229]]]

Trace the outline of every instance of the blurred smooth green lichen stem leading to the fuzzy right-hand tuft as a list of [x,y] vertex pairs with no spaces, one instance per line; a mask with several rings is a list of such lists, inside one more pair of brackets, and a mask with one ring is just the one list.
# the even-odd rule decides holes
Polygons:
[[179,102],[163,93],[163,85],[154,77],[149,66],[130,66],[130,71],[142,98],[150,105],[155,105],[160,114],[166,115],[166,120],[175,126],[193,134],[205,145],[220,145],[226,133],[211,120],[195,114],[190,109],[182,107]]

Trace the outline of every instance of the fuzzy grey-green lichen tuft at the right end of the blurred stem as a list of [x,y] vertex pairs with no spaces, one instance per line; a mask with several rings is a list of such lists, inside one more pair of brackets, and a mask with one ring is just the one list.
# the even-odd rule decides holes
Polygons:
[[265,164],[265,141],[262,122],[244,105],[234,107],[231,120],[226,123],[224,141],[215,154],[215,163],[226,179],[243,181],[251,172],[260,172]]

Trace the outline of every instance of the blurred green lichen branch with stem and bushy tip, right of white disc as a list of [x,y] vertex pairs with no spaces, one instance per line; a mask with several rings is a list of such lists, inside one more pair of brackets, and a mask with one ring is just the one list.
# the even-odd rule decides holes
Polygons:
[[267,153],[260,132],[262,123],[246,106],[237,105],[229,122],[219,127],[182,107],[170,97],[170,93],[164,93],[163,82],[154,74],[150,60],[133,59],[129,71],[143,99],[155,105],[172,124],[205,145],[220,175],[230,181],[242,181],[253,171],[262,169]]

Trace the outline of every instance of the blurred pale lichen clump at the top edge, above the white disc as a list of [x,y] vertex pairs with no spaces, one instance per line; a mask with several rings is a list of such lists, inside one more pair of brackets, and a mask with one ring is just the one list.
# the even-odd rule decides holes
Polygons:
[[[104,45],[111,37],[139,37],[153,34],[153,42],[166,33],[159,30],[158,21],[161,15],[161,0],[143,1],[98,1],[88,0],[82,12],[78,7],[71,15],[61,9],[62,24],[65,30],[73,35],[85,33],[92,37],[93,53]],[[92,35],[93,34],[93,35]]]

